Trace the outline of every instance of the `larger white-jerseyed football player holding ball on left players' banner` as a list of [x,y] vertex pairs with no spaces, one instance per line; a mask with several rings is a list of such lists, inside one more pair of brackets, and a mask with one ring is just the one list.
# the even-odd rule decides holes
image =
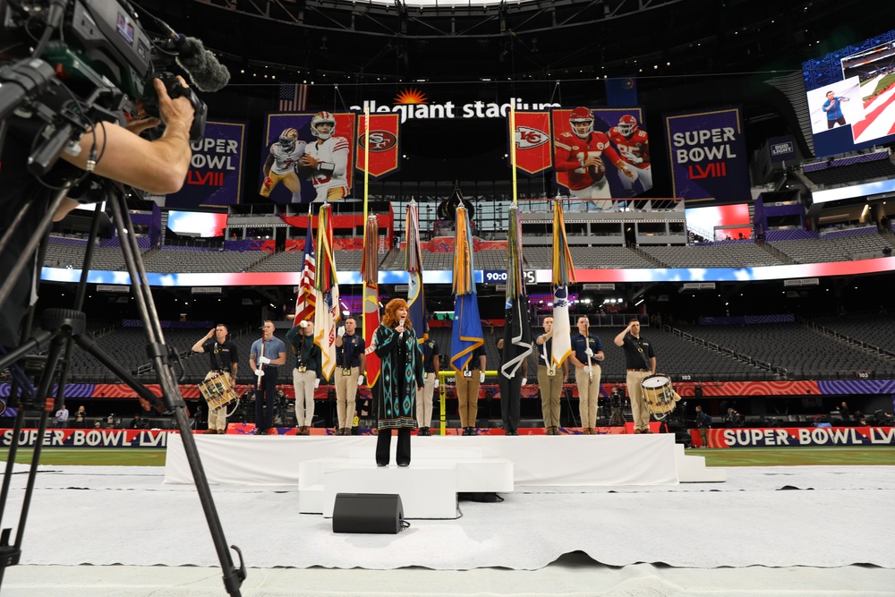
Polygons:
[[336,117],[318,112],[311,118],[311,141],[299,162],[298,175],[310,178],[318,201],[337,201],[348,195],[348,140],[336,136]]

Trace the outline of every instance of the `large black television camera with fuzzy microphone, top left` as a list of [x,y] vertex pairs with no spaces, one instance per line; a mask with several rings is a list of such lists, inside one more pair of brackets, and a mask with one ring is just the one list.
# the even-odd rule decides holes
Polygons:
[[200,90],[223,88],[229,72],[200,40],[146,14],[161,32],[150,34],[126,0],[0,0],[0,38],[12,42],[0,47],[0,59],[19,58],[0,69],[0,147],[10,114],[38,118],[44,127],[29,170],[46,175],[98,122],[158,116],[155,78],[171,98],[190,100],[190,139],[199,141],[208,107],[170,69],[178,64]]

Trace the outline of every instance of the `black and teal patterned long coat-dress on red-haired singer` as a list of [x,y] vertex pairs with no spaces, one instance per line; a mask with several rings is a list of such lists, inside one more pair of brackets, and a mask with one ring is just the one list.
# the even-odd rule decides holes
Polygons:
[[404,338],[384,325],[373,337],[379,371],[379,429],[416,429],[416,388],[422,387],[422,353],[413,329]]

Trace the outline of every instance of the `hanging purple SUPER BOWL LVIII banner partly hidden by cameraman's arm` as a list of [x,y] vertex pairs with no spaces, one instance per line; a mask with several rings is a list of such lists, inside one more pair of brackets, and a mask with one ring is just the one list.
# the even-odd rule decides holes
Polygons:
[[168,195],[166,208],[226,207],[240,202],[245,124],[209,122],[205,138],[191,143],[183,188]]

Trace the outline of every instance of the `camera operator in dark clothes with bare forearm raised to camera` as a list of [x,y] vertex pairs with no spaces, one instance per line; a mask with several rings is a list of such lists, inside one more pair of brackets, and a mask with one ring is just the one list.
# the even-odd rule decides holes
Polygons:
[[[4,52],[0,55],[0,67],[22,57]],[[186,87],[182,77],[177,79]],[[162,81],[154,79],[152,84],[158,94],[160,121],[158,118],[141,118],[126,126],[112,122],[98,123],[81,136],[74,150],[62,152],[59,156],[62,159],[42,180],[28,171],[28,158],[32,143],[44,129],[45,123],[38,117],[19,113],[10,113],[6,117],[8,132],[0,148],[0,221],[9,225],[21,214],[28,200],[33,203],[24,217],[16,222],[9,244],[0,253],[0,280],[9,276],[30,237],[36,234],[41,217],[49,209],[56,191],[47,185],[60,187],[82,175],[80,171],[88,169],[91,157],[96,159],[93,172],[98,176],[157,194],[180,190],[192,157],[189,132],[194,109],[188,98],[171,99]],[[40,99],[46,99],[49,104],[59,97]],[[61,108],[64,101],[69,99],[57,99],[59,105],[50,107]],[[156,141],[140,137],[141,132],[158,126],[160,122],[166,125],[165,131]],[[75,200],[64,199],[55,212],[54,220],[63,219],[77,205]],[[13,286],[12,294],[0,305],[0,345],[19,344],[21,320],[37,298],[33,295],[33,288],[41,265],[34,263],[26,266]]]

